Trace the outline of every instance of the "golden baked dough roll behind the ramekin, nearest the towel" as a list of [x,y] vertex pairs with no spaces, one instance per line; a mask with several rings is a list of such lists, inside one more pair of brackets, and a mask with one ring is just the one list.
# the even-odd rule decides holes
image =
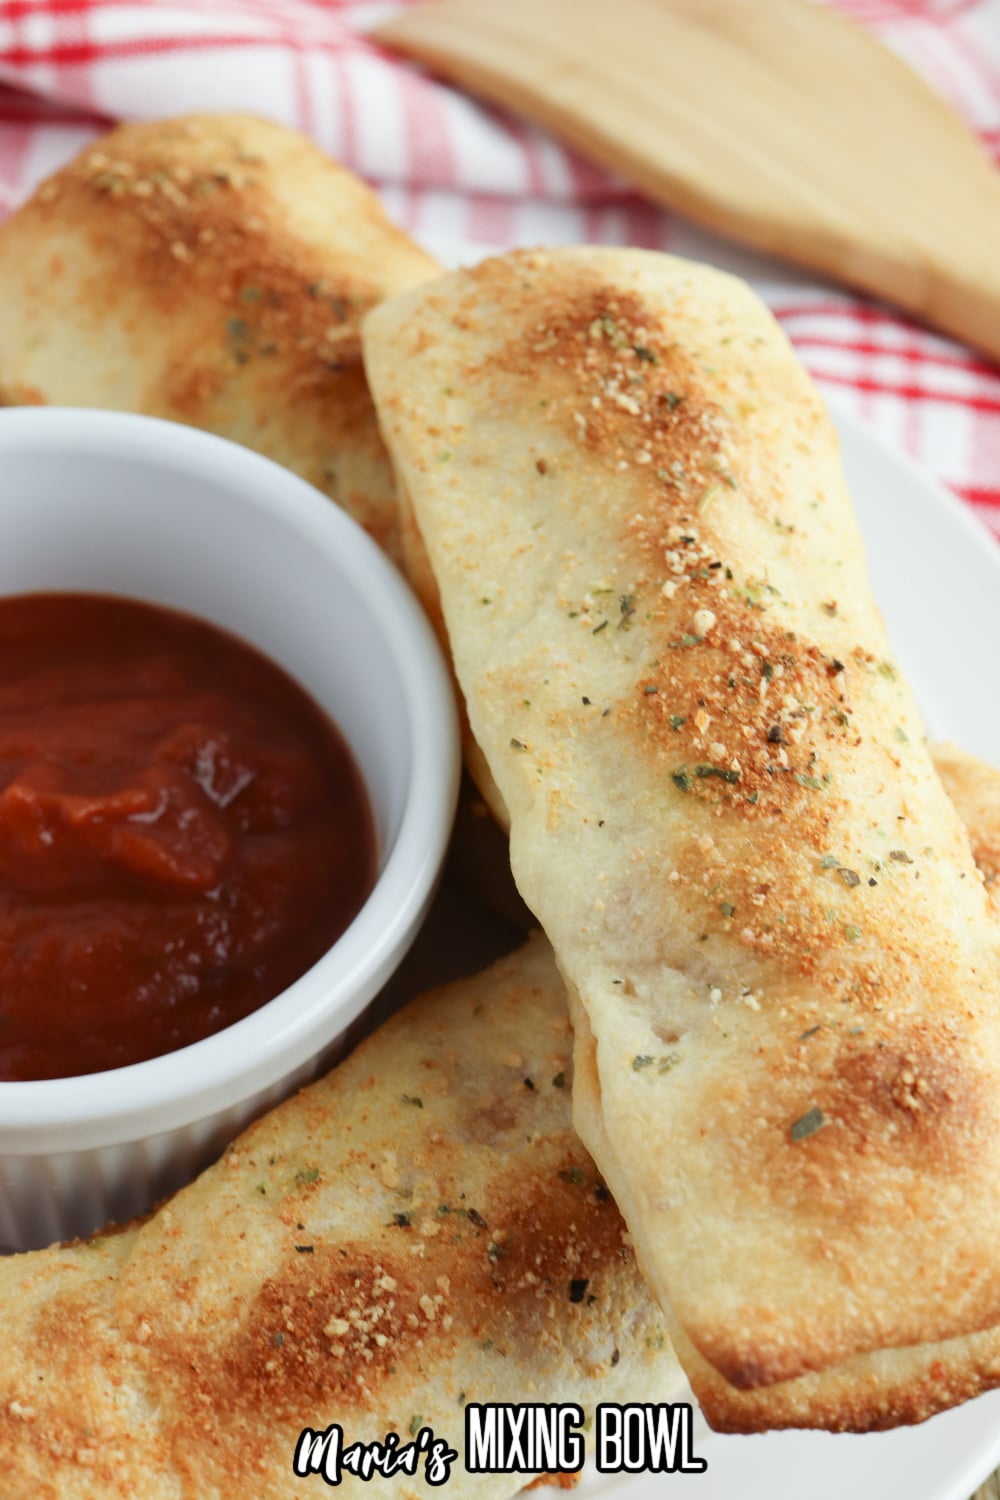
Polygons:
[[232,438],[397,552],[358,324],[436,272],[303,135],[237,114],[124,124],[0,230],[0,404]]

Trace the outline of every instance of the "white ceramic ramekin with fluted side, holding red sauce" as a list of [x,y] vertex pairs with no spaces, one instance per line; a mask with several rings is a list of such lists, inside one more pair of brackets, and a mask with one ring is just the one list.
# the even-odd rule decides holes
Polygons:
[[352,747],[381,860],[343,936],[246,1020],[127,1068],[0,1083],[0,1245],[16,1250],[148,1208],[333,1059],[423,920],[459,776],[412,594],[352,520],[246,448],[148,417],[0,411],[0,594],[36,590],[184,609],[279,662]]

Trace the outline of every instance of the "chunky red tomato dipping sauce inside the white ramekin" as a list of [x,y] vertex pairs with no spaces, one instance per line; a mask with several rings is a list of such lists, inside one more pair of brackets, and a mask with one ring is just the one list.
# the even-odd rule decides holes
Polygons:
[[339,732],[259,652],[120,598],[0,600],[0,1078],[208,1036],[375,880]]

